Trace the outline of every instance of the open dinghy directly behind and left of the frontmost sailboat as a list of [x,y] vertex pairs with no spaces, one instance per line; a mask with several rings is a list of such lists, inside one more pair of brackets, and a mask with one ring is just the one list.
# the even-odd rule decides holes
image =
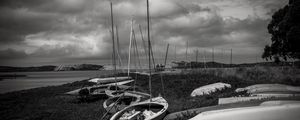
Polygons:
[[126,91],[122,94],[108,98],[103,102],[103,107],[108,113],[116,113],[125,107],[145,101],[149,99],[150,95],[147,93],[137,91]]

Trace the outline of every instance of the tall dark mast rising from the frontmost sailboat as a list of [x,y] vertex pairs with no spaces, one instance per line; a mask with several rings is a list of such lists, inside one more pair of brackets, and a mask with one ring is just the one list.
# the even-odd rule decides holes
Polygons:
[[148,55],[149,55],[149,92],[150,92],[150,102],[152,102],[152,88],[151,88],[151,42],[150,42],[150,25],[149,25],[149,0],[147,0],[147,32],[148,32]]

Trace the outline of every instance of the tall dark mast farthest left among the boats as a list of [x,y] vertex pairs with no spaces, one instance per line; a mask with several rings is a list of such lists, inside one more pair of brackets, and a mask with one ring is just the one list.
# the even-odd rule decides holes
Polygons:
[[113,66],[114,66],[114,76],[115,76],[115,84],[117,85],[117,66],[116,66],[116,54],[115,54],[115,37],[114,37],[114,17],[113,17],[113,9],[112,2],[110,2],[110,17],[111,17],[111,31],[112,31],[112,41],[113,41]]

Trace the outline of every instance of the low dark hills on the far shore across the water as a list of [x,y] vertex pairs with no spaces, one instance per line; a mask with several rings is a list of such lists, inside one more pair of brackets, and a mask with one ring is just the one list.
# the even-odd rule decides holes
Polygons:
[[12,67],[0,66],[0,72],[35,72],[35,71],[74,71],[74,70],[102,70],[102,65],[94,64],[76,64],[76,65],[46,65],[34,67]]

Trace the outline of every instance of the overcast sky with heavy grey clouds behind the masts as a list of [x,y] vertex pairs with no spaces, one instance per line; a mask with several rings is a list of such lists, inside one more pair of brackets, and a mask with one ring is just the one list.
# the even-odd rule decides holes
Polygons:
[[[131,21],[144,59],[146,0],[1,0],[0,65],[111,64],[110,2],[122,63],[128,58]],[[231,49],[233,63],[261,62],[263,48],[270,44],[267,25],[287,3],[149,0],[156,63],[163,62],[167,44],[168,62],[195,61],[198,50],[198,61],[212,61],[213,53],[214,61],[229,63]]]

